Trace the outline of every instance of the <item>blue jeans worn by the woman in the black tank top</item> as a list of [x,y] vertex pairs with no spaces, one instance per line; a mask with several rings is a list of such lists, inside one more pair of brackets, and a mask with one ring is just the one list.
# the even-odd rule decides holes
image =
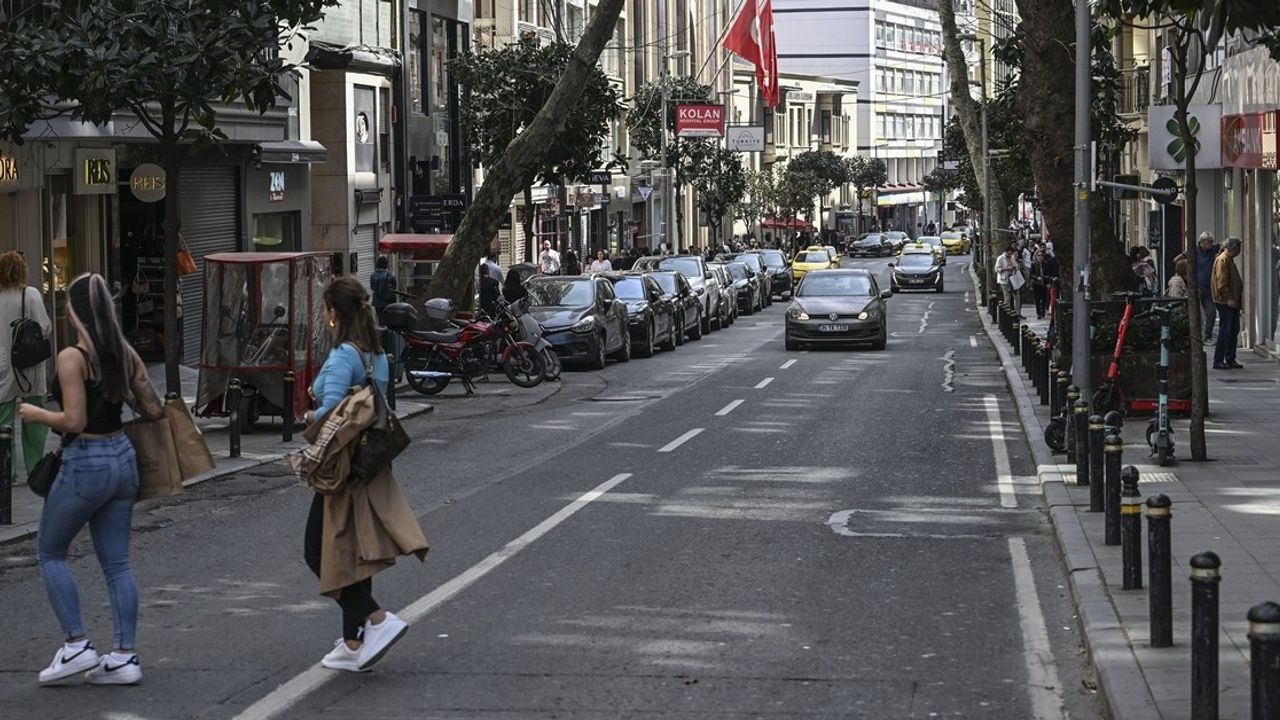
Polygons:
[[137,495],[138,461],[123,433],[109,438],[79,438],[63,451],[61,470],[40,515],[36,552],[49,603],[68,638],[84,635],[84,624],[76,579],[67,566],[67,548],[88,524],[111,597],[114,647],[133,648],[138,587],[129,568],[129,530]]

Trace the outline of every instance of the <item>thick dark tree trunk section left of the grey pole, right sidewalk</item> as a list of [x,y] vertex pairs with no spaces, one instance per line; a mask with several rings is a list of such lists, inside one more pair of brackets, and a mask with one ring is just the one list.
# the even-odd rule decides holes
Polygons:
[[[1075,136],[1075,9],[1069,0],[1018,0],[1023,18],[1023,69],[1018,109],[1030,150],[1036,192],[1053,254],[1070,266],[1075,252],[1071,178]],[[1087,50],[1085,50],[1087,51]],[[1091,204],[1092,205],[1092,204]],[[1061,273],[1061,296],[1070,297],[1074,273]]]

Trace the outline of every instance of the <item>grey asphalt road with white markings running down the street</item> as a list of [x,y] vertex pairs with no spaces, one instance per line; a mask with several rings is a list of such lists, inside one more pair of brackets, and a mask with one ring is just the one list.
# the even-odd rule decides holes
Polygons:
[[[567,372],[538,405],[442,398],[397,468],[433,550],[375,579],[415,621],[369,674],[316,665],[339,615],[302,564],[310,493],[283,465],[138,507],[137,688],[37,688],[58,625],[32,543],[0,547],[0,708],[1098,717],[968,260],[948,292],[890,301],[883,352],[786,352],[780,302]],[[87,538],[74,550],[102,647],[105,589]]]

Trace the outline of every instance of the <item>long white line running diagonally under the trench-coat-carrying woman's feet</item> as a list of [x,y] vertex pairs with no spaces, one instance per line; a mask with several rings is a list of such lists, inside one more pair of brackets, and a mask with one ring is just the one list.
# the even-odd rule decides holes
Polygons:
[[[454,577],[443,585],[420,597],[412,605],[401,610],[398,615],[408,623],[421,620],[429,612],[452,600],[456,594],[472,585],[480,578],[492,573],[495,568],[513,557],[517,552],[532,544],[534,541],[549,533],[556,528],[556,525],[568,520],[575,512],[599,500],[604,493],[609,492],[630,477],[631,473],[613,475],[608,480],[596,486],[594,489],[584,493],[573,502],[570,502],[564,507],[559,509],[559,511],[550,518],[534,525],[534,528],[525,534],[502,546],[500,550],[489,557],[476,562],[461,575]],[[316,662],[289,682],[268,693],[253,705],[246,707],[243,712],[236,716],[236,720],[269,720],[270,717],[275,717],[276,715],[280,715],[293,707],[303,697],[320,689],[325,683],[338,675],[338,671],[328,670]]]

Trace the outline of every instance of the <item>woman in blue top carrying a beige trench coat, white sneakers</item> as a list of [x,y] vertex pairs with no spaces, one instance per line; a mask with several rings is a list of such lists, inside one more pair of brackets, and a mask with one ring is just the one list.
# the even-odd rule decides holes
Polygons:
[[[365,288],[349,277],[337,278],[325,288],[324,304],[334,347],[311,386],[319,406],[307,413],[306,434],[314,443],[320,433],[342,432],[340,425],[349,419],[338,418],[339,413],[329,415],[340,407],[352,387],[371,380],[385,393],[389,379],[387,355],[378,342]],[[324,423],[316,423],[317,418]],[[330,451],[349,454],[351,448],[321,450]],[[328,466],[326,462],[323,468]],[[307,477],[316,492],[307,514],[303,557],[320,578],[320,592],[342,609],[342,638],[320,664],[360,673],[381,660],[408,629],[407,623],[374,600],[372,577],[392,566],[399,555],[425,559],[426,538],[389,468],[360,483],[325,478],[321,484],[317,477],[319,473]]]

